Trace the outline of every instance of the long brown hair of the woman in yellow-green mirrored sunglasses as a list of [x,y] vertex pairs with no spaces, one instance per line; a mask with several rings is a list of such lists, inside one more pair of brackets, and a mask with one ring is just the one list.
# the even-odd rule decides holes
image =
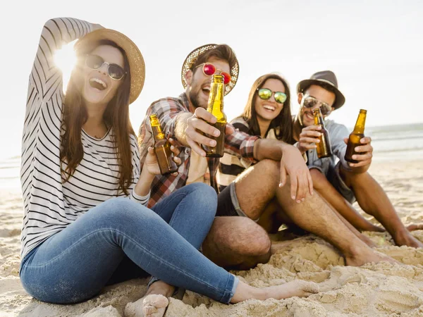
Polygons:
[[[252,84],[242,117],[250,126],[250,135],[262,134],[260,132],[260,126],[257,120],[257,112],[255,110],[255,97],[258,93],[257,89],[262,88],[266,80],[269,79],[276,79],[281,81],[283,87],[285,87],[286,94],[286,101],[283,103],[281,113],[279,113],[278,116],[274,118],[274,120],[271,120],[269,130],[276,128],[275,132],[277,139],[281,139],[283,142],[293,144],[295,141],[293,140],[293,119],[290,113],[290,90],[288,82],[286,82],[286,80],[278,74],[266,74],[257,78],[254,84]],[[266,131],[266,134],[269,132],[269,130]]]

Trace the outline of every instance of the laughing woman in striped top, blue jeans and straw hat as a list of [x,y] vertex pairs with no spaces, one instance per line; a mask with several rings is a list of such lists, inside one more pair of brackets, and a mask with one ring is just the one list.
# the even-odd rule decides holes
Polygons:
[[[78,62],[63,94],[54,54],[74,39]],[[142,54],[125,35],[71,18],[44,25],[23,129],[25,290],[44,302],[71,304],[147,272],[223,303],[317,292],[305,281],[250,287],[203,256],[198,248],[216,212],[212,187],[192,184],[145,206],[159,168],[148,149],[140,170],[128,114],[144,78]],[[167,304],[149,295],[128,304],[127,316],[162,316]]]

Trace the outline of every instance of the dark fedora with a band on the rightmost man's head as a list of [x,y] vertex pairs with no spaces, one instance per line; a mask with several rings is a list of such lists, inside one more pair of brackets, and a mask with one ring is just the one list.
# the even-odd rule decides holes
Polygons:
[[323,70],[321,72],[314,73],[310,79],[300,81],[297,85],[297,93],[304,92],[305,89],[311,85],[321,86],[335,94],[336,99],[332,105],[333,108],[341,108],[341,106],[345,103],[345,97],[338,89],[338,80],[336,80],[336,75],[331,72],[331,70]]

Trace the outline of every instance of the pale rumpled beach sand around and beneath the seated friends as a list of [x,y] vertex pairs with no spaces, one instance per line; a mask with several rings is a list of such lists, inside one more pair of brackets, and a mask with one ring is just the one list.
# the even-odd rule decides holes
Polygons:
[[[423,161],[376,162],[370,172],[404,223],[423,223]],[[1,189],[0,316],[123,316],[125,304],[145,293],[144,279],[106,287],[99,296],[81,304],[53,305],[32,299],[18,278],[22,210],[19,190]],[[378,244],[378,251],[404,265],[343,266],[336,249],[307,235],[283,242],[269,263],[234,273],[257,287],[311,280],[320,283],[319,294],[307,299],[223,305],[186,292],[183,301],[171,299],[166,316],[423,316],[423,249],[395,247],[386,233],[367,235]],[[413,235],[423,241],[423,230]]]

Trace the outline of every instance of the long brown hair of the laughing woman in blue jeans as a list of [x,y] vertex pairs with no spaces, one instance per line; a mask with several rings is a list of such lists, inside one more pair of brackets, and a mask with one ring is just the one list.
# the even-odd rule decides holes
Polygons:
[[[135,135],[135,132],[129,120],[129,93],[130,93],[130,71],[128,58],[125,51],[121,49],[115,42],[109,40],[99,41],[99,45],[114,46],[121,51],[124,60],[125,77],[123,82],[118,87],[113,99],[109,101],[106,110],[103,114],[104,123],[111,128],[112,137],[116,156],[119,164],[119,188],[125,194],[128,194],[128,187],[133,182],[133,165],[132,165],[132,151],[130,149],[130,135]],[[95,47],[97,47],[95,46]],[[92,49],[91,49],[92,51]],[[63,120],[61,138],[61,162],[66,161],[66,169],[63,170],[64,181],[67,182],[84,156],[84,149],[81,142],[82,125],[87,122],[88,114],[82,94],[80,92],[80,70],[81,63],[85,62],[85,55],[89,53],[86,49],[81,49],[77,52],[78,65],[73,70],[71,80],[69,80],[68,88],[63,102]]]

